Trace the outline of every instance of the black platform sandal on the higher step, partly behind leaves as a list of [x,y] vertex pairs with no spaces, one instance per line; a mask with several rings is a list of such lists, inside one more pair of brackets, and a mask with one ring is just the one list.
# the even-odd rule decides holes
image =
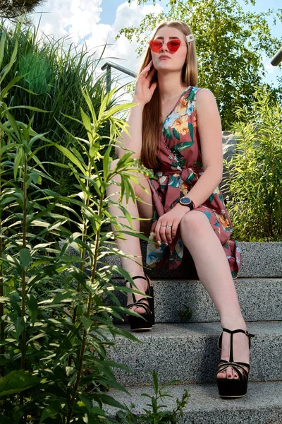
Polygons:
[[[152,292],[152,285],[151,280],[146,276],[135,276],[132,279],[135,280],[137,278],[142,278],[143,280],[147,280],[148,286],[147,290],[145,291],[145,295],[151,296],[151,298],[141,298],[139,300],[136,300],[134,293],[129,293],[132,297],[132,303],[127,305],[126,307],[130,309],[133,306],[136,307],[142,307],[145,310],[145,314],[139,314],[140,317],[134,317],[133,315],[128,315],[128,322],[130,324],[131,331],[146,331],[146,330],[152,330],[154,326],[154,299],[153,299],[153,292]],[[133,285],[126,281],[126,285],[129,285],[130,288],[133,288]],[[149,306],[147,303],[142,302],[143,300],[147,300],[149,303]]]

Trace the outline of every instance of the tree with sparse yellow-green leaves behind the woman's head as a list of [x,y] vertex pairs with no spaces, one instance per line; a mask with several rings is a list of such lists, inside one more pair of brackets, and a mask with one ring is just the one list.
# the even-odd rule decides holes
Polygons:
[[[128,0],[130,3],[130,0]],[[138,0],[138,4],[147,0]],[[156,4],[156,1],[154,1]],[[255,0],[245,0],[255,6]],[[190,25],[195,35],[199,61],[198,86],[209,88],[215,95],[223,129],[236,121],[236,107],[249,109],[255,87],[263,85],[265,76],[262,57],[272,57],[282,44],[271,35],[268,18],[282,20],[282,8],[266,13],[244,11],[238,0],[170,0],[167,13],[150,13],[139,27],[123,28],[122,34],[137,38],[137,54],[144,52],[148,37],[162,20],[179,19]],[[269,86],[272,98],[282,94],[280,86]]]

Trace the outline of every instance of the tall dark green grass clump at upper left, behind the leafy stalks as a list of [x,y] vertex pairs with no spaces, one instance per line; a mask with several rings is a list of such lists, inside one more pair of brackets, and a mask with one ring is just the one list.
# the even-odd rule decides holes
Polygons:
[[[86,47],[78,49],[67,37],[55,40],[51,36],[40,34],[39,26],[24,27],[20,20],[9,30],[5,21],[1,20],[0,35],[7,39],[3,50],[3,69],[10,61],[15,45],[18,45],[15,60],[3,79],[4,86],[7,86],[15,75],[21,77],[9,89],[8,106],[16,107],[13,117],[25,124],[33,119],[32,129],[38,134],[48,131],[49,139],[61,146],[79,148],[74,144],[73,136],[68,133],[80,134],[82,139],[87,138],[85,126],[80,122],[80,107],[87,111],[81,87],[90,94],[94,110],[97,113],[99,111],[105,76],[98,75],[97,66],[104,50],[101,55],[96,52],[89,54]],[[107,105],[108,109],[118,104],[118,100],[120,95],[116,90]],[[25,113],[22,108],[18,108],[19,105],[25,107]],[[30,107],[37,109],[30,110]],[[76,119],[68,119],[69,115]],[[68,127],[68,133],[63,130],[63,126]],[[106,142],[104,136],[109,136],[109,131],[110,123],[105,122],[99,129],[102,142]],[[56,187],[59,194],[70,194],[75,178],[71,172],[65,172],[63,167],[56,166],[56,163],[67,164],[68,158],[52,144],[38,141],[38,146],[43,144],[44,148],[37,152],[38,158],[45,163],[47,172],[59,184],[43,180],[42,187],[47,184],[50,189]],[[97,167],[99,166],[100,163],[97,162]]]

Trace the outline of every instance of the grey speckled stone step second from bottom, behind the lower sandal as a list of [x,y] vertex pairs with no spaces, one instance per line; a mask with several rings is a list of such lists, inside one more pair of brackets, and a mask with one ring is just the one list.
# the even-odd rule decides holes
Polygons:
[[[128,329],[126,324],[118,325]],[[255,334],[251,346],[250,381],[282,380],[282,323],[247,322]],[[217,339],[219,323],[156,324],[152,331],[135,333],[142,343],[123,337],[109,354],[128,365],[133,373],[116,370],[125,386],[146,385],[156,370],[161,383],[179,379],[181,383],[213,383],[220,358]],[[112,349],[112,350],[111,350]]]

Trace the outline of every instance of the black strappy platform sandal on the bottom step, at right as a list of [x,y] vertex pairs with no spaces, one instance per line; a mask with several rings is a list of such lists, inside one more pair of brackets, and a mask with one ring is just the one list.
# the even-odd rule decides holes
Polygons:
[[[221,335],[219,336],[219,340],[217,342],[217,346],[219,346],[219,349],[221,349],[221,343],[222,343],[222,335],[223,331],[226,331],[226,333],[231,334],[231,340],[230,340],[230,353],[229,353],[229,362],[228,360],[221,359],[219,361],[219,370],[216,372],[216,382],[217,386],[219,387],[219,396],[222,398],[239,398],[245,396],[247,393],[247,380],[249,378],[249,372],[250,372],[250,364],[247,363],[241,363],[241,362],[234,362],[233,358],[233,334],[234,333],[244,333],[247,338],[249,339],[249,349],[251,347],[251,337],[254,337],[254,334],[250,334],[247,331],[244,330],[228,330],[223,329],[221,332]],[[218,378],[217,375],[219,372],[225,371],[228,367],[233,368],[233,370],[238,374],[238,379],[229,379],[229,378]],[[247,371],[245,368],[247,368]],[[240,370],[243,372],[240,372]]]

